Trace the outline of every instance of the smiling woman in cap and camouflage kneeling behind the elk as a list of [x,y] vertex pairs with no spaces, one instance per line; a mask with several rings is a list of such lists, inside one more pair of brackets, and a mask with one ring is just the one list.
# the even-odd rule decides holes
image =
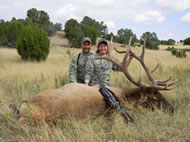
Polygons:
[[[96,54],[88,58],[85,67],[85,84],[87,85],[97,85],[97,78],[101,83],[111,86],[110,84],[110,72],[121,71],[120,67],[113,64],[111,61],[106,59],[98,59],[97,57],[107,56],[108,54],[108,43],[105,39],[100,39],[98,41]],[[114,58],[115,59],[115,58]],[[115,59],[116,60],[116,59]]]

